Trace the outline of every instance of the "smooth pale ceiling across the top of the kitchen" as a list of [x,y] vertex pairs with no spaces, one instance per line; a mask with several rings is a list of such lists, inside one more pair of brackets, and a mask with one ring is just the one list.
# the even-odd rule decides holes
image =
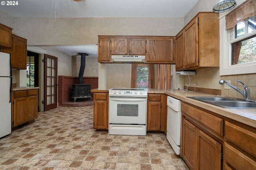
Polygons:
[[2,1],[0,10],[15,18],[153,17],[183,18],[198,0],[19,0]]

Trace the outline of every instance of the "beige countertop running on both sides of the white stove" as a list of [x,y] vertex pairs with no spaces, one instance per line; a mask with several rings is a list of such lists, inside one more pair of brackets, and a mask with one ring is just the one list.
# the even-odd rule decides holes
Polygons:
[[[92,92],[108,92],[110,88],[96,88],[92,89]],[[216,96],[212,94],[200,93],[200,92],[183,92],[182,90],[172,90],[172,89],[148,89],[148,93],[160,93],[167,94],[184,102],[193,104],[200,108],[204,108],[211,112],[220,114],[232,120],[247,124],[256,128],[256,109],[227,109],[214,106],[205,102],[200,102],[198,100],[193,100],[187,97],[193,96]]]

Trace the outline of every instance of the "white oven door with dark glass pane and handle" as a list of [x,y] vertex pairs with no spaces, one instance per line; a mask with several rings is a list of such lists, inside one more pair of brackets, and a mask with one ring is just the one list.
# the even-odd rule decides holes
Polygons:
[[146,124],[147,98],[110,97],[110,124]]

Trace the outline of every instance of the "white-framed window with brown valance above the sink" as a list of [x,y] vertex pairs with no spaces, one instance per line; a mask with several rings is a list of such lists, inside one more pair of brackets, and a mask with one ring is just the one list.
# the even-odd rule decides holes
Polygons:
[[255,0],[220,14],[220,76],[256,73]]

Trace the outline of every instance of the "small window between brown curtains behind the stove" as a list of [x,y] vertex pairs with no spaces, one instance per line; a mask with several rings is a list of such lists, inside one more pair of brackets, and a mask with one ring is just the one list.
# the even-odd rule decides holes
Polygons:
[[137,88],[148,88],[148,66],[137,66]]

